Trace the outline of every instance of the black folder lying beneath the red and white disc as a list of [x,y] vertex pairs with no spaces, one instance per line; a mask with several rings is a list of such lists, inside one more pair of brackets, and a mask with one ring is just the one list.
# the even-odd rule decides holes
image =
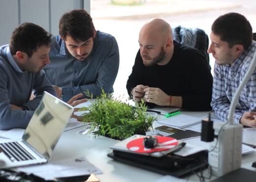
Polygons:
[[119,162],[178,178],[182,178],[193,171],[203,170],[208,164],[207,151],[197,152],[187,157],[175,154],[153,157],[113,150],[113,152],[107,154],[107,156]]

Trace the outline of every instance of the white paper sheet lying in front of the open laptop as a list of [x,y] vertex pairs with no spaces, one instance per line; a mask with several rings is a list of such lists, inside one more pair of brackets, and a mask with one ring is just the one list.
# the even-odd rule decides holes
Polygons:
[[47,164],[19,167],[19,171],[33,173],[45,180],[59,177],[81,176],[89,174],[102,174],[93,164],[84,157],[50,161]]

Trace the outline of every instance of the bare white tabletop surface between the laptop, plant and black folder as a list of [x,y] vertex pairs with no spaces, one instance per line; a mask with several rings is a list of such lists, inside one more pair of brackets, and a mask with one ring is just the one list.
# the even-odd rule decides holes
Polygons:
[[[203,117],[206,116],[208,112],[183,111],[183,114]],[[155,124],[155,126],[157,126],[157,124]],[[103,136],[95,137],[92,134],[78,134],[78,131],[81,131],[84,127],[86,126],[64,131],[51,159],[84,156],[103,172],[103,174],[96,175],[100,182],[157,182],[164,176],[109,158],[107,154],[112,152],[109,147],[116,144],[118,141]],[[242,167],[254,170],[251,167],[254,161],[256,161],[256,152],[246,154],[242,159]],[[205,170],[205,173],[207,174],[207,170]],[[215,179],[215,177],[211,178],[211,180],[213,179]],[[189,181],[199,182],[199,178],[196,175],[191,175]]]

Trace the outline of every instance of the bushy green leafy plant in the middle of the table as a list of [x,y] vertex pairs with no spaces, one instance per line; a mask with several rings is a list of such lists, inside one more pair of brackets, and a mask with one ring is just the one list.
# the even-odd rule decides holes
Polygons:
[[[91,97],[93,98],[92,95]],[[153,129],[152,124],[156,118],[147,114],[147,106],[143,100],[137,106],[139,107],[132,107],[102,91],[88,107],[81,108],[80,111],[89,111],[81,119],[83,122],[92,122],[90,131],[98,129],[99,135],[123,140]]]

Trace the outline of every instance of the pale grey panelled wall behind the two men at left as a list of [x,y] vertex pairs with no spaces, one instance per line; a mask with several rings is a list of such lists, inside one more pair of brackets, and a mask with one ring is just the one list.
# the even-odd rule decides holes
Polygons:
[[32,22],[57,35],[63,13],[80,8],[90,13],[90,0],[1,0],[0,45],[8,44],[12,31],[24,22]]

